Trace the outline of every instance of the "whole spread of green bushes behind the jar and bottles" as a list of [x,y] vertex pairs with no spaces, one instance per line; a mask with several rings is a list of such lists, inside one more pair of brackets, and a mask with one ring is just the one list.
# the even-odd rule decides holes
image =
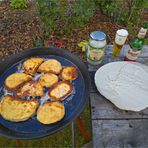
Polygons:
[[37,0],[37,10],[40,14],[42,29],[46,33],[64,34],[69,33],[72,28],[82,27],[97,8],[115,22],[133,28],[140,22],[146,1]]

